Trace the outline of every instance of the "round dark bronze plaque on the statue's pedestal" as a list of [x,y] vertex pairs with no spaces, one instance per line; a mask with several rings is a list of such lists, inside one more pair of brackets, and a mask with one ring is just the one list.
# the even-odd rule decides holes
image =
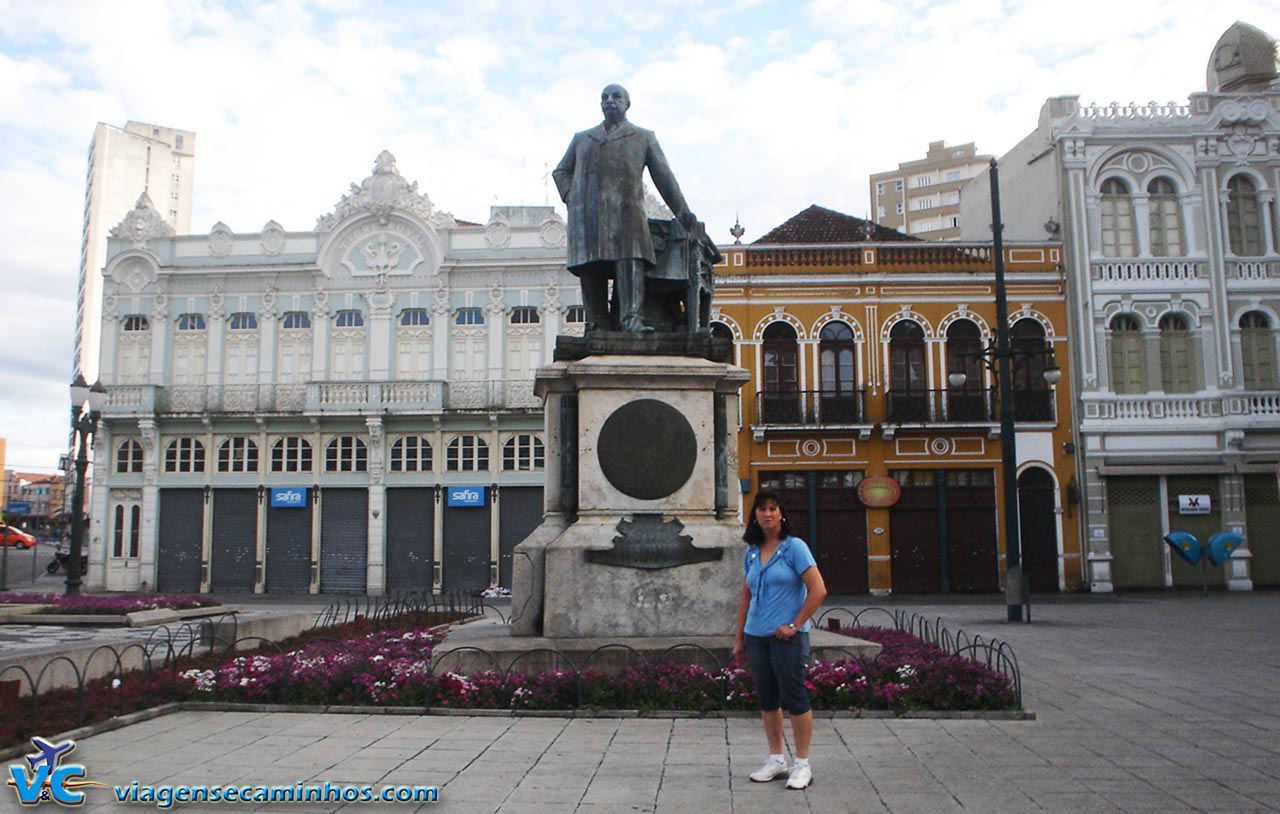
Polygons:
[[684,486],[694,474],[698,439],[678,410],[641,398],[605,419],[595,456],[614,489],[641,500],[657,500]]

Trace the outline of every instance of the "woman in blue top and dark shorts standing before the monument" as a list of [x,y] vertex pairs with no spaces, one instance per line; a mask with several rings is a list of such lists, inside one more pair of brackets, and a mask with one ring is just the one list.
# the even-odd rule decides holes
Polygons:
[[[746,655],[769,741],[769,756],[751,773],[751,779],[764,783],[787,774],[787,788],[805,788],[813,782],[809,768],[813,709],[804,686],[809,617],[826,599],[827,586],[809,547],[791,536],[776,491],[755,494],[742,539],[748,545],[733,658],[741,662]],[[795,765],[790,772],[782,754],[783,708],[791,715],[795,746]]]

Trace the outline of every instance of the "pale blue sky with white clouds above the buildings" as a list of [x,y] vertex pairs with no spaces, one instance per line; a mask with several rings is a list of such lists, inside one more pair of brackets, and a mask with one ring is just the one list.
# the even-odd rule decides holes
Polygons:
[[310,229],[390,150],[438,209],[559,204],[547,179],[622,82],[730,242],[931,141],[1000,155],[1050,96],[1185,101],[1276,0],[0,0],[0,436],[54,471],[97,122],[197,134],[192,228]]

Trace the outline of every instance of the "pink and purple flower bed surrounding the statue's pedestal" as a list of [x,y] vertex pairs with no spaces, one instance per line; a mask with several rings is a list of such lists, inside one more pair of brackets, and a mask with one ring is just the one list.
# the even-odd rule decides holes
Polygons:
[[[815,709],[1010,710],[1012,682],[972,659],[897,630],[851,628],[876,641],[869,660],[815,660],[808,672]],[[301,649],[242,655],[182,677],[193,699],[284,704],[430,705],[451,709],[754,709],[751,678],[737,664],[658,663],[613,674],[585,671],[481,672],[431,676],[436,639],[425,630],[370,634],[344,642],[314,641]]]

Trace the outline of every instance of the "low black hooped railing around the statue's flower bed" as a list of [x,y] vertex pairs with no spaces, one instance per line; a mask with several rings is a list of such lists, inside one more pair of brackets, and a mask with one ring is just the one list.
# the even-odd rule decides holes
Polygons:
[[[326,627],[358,619],[381,619],[387,621],[388,626],[403,627],[406,626],[406,613],[412,617],[417,612],[426,613],[429,608],[436,612],[452,608],[453,613],[461,612],[463,616],[497,616],[499,621],[506,621],[499,610],[488,605],[483,598],[475,594],[456,595],[452,599],[447,596],[434,599],[439,602],[428,602],[425,596],[403,595],[378,598],[376,602],[371,603],[355,600],[335,603],[321,612],[317,617],[317,626]],[[399,617],[393,621],[397,612]],[[444,621],[449,619],[434,616],[428,625],[439,625]],[[411,618],[408,623],[412,623]],[[815,625],[844,632],[856,632],[863,626],[892,626],[923,641],[923,644],[888,644],[869,659],[859,659],[854,648],[815,646],[814,658],[817,659],[845,658],[861,660],[864,666],[892,668],[897,664],[919,663],[922,648],[932,645],[946,655],[977,662],[1004,676],[1009,681],[1015,706],[1021,709],[1021,672],[1018,658],[1007,642],[982,635],[969,635],[964,631],[952,634],[942,625],[941,618],[931,619],[918,613],[886,608],[865,608],[856,612],[849,608],[831,608],[815,619]],[[3,712],[0,715],[0,724],[3,724],[0,726],[0,760],[29,750],[29,744],[23,738],[29,737],[31,733],[55,735],[87,723],[105,721],[113,715],[151,709],[157,706],[157,703],[183,700],[189,695],[189,691],[184,691],[179,686],[179,672],[193,664],[209,664],[212,657],[232,657],[233,654],[247,657],[253,651],[279,657],[279,669],[283,671],[284,685],[288,685],[294,671],[296,658],[278,642],[261,636],[238,636],[237,630],[236,613],[227,613],[196,623],[183,623],[177,628],[157,627],[143,642],[102,645],[93,649],[79,663],[65,655],[58,655],[46,660],[35,672],[20,664],[0,667],[0,690],[5,690],[0,694],[0,712]],[[308,640],[312,644],[323,644],[355,657],[355,650],[346,641],[316,637],[315,635],[310,636]],[[456,663],[458,657],[479,653],[492,667],[493,673],[500,676],[500,683],[506,687],[511,678],[521,672],[526,662],[536,660],[539,657],[550,658],[571,678],[576,708],[581,708],[584,704],[584,674],[593,668],[593,664],[605,660],[611,651],[623,653],[626,660],[637,667],[677,663],[704,666],[719,683],[721,695],[714,699],[716,704],[721,704],[722,708],[733,705],[728,664],[708,648],[691,642],[673,644],[653,659],[621,642],[605,644],[585,657],[579,657],[577,663],[557,650],[532,649],[508,664],[506,669],[498,664],[492,653],[474,646],[463,646],[439,649],[433,654],[434,658],[425,657],[425,668],[426,674],[434,682],[436,677],[448,672],[448,667],[451,663]],[[132,660],[137,660],[140,666],[132,669],[127,668],[125,663]],[[58,669],[69,669],[73,683],[54,686],[51,674]],[[964,668],[956,667],[955,669]],[[653,680],[658,680],[657,673]],[[426,709],[431,709],[434,705],[434,683],[429,683],[425,699]],[[507,698],[506,701],[509,703],[511,698]]]

